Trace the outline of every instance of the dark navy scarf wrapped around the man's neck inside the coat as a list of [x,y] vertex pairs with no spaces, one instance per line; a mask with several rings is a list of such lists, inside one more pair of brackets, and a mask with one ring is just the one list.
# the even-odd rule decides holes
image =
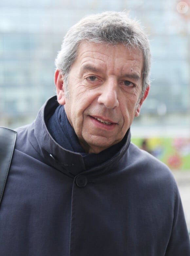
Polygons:
[[67,119],[64,106],[62,105],[56,108],[53,115],[47,121],[47,129],[61,147],[73,152],[78,152],[83,156],[86,169],[98,166],[117,154],[124,145],[127,136],[125,135],[121,142],[101,151],[99,154],[85,153],[74,129]]

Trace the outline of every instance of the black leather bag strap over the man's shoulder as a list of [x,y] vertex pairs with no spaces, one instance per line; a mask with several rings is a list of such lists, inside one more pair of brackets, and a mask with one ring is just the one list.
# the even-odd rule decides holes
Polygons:
[[0,127],[0,204],[9,174],[16,135],[16,131]]

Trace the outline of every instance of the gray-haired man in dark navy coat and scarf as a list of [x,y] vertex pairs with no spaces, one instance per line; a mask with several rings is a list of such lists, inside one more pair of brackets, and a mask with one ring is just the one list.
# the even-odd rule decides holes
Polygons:
[[0,208],[2,256],[188,256],[170,170],[130,143],[149,90],[149,43],[124,13],[66,34],[57,96],[17,142]]

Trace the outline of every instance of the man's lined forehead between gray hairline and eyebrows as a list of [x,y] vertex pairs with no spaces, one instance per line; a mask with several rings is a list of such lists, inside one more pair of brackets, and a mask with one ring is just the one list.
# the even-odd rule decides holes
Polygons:
[[89,63],[94,67],[138,69],[140,73],[143,69],[142,51],[134,47],[128,48],[123,44],[107,45],[83,41],[79,45],[77,53],[74,63],[80,66]]

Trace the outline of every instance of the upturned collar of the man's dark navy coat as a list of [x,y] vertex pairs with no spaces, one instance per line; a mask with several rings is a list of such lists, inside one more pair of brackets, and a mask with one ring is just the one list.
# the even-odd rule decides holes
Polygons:
[[110,168],[113,167],[113,164],[118,163],[118,161],[127,151],[131,138],[130,129],[127,131],[124,146],[118,153],[116,153],[110,160],[106,161],[105,163],[93,167],[89,170],[85,170],[85,164],[82,155],[80,153],[75,153],[62,148],[58,143],[55,142],[47,130],[47,120],[55,111],[57,106],[57,97],[54,96],[50,98],[40,109],[37,118],[34,121],[34,135],[40,148],[40,154],[45,159],[45,162],[71,177],[74,177],[79,173],[88,173],[90,175],[93,175],[94,173],[98,175],[98,173],[101,173],[105,175],[105,172],[109,172]]

